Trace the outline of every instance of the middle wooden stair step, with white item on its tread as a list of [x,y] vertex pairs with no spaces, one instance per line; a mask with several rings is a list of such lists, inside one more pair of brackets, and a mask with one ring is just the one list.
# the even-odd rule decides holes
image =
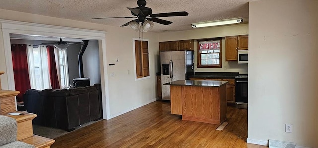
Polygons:
[[36,114],[32,113],[25,113],[21,115],[5,115],[11,118],[14,118],[18,125],[18,131],[16,135],[17,140],[21,140],[27,137],[33,136],[33,126],[32,120],[37,116]]

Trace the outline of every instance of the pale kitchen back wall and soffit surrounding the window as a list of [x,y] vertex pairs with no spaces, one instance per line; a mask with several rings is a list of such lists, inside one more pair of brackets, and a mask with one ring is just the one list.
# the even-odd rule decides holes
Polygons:
[[159,33],[159,42],[188,40],[194,41],[194,65],[195,72],[239,72],[240,74],[248,74],[247,64],[238,64],[238,61],[225,61],[225,38],[222,39],[222,68],[197,68],[197,42],[196,39],[225,37],[235,35],[248,34],[248,24],[195,28],[187,31],[162,32]]

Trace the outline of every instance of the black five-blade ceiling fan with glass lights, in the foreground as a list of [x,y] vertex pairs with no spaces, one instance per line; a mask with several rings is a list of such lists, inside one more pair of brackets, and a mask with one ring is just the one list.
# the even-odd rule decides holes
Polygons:
[[[169,13],[158,13],[158,14],[152,14],[152,9],[146,6],[146,0],[138,0],[137,1],[138,7],[135,8],[129,8],[131,11],[131,14],[136,17],[103,17],[103,18],[92,18],[92,19],[106,19],[106,18],[137,18],[132,21],[129,21],[121,27],[124,26],[130,26],[135,31],[141,31],[141,32],[147,32],[153,27],[153,22],[163,24],[163,25],[169,25],[172,22],[159,19],[157,17],[171,17],[171,16],[187,16],[189,15],[188,12],[182,11],[182,12],[169,12]],[[139,27],[139,24],[141,23],[141,26]]]

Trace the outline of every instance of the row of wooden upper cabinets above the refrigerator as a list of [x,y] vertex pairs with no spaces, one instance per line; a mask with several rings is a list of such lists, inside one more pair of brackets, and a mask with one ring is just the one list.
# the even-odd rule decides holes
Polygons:
[[194,50],[193,40],[168,41],[159,43],[160,51]]

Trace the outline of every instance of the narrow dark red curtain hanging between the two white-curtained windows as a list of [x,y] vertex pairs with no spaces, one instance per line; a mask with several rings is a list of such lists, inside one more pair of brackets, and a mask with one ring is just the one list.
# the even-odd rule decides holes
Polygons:
[[48,46],[47,51],[51,87],[52,89],[60,89],[59,78],[55,64],[54,47]]

